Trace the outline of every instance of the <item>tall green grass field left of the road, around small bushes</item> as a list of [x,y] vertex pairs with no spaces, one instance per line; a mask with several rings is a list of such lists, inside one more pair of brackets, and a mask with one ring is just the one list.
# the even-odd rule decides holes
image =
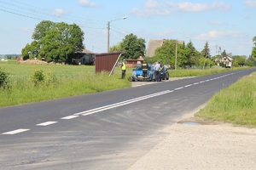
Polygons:
[[[0,107],[131,87],[128,78],[120,79],[119,69],[109,77],[107,72],[96,74],[95,66],[89,65],[0,64],[11,82],[11,88],[0,89]],[[54,81],[35,84],[32,76],[38,70]]]

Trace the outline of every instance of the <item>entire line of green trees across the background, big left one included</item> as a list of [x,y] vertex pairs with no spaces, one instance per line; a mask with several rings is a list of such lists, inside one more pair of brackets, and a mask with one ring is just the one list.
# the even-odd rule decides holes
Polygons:
[[[84,49],[84,32],[79,26],[66,23],[54,23],[49,20],[41,21],[36,26],[32,34],[33,41],[26,44],[22,49],[23,59],[45,59],[48,62],[69,63],[76,52]],[[256,65],[256,37],[253,37],[255,47],[252,56],[246,59],[246,56],[234,56],[234,65]],[[137,59],[144,56],[146,50],[146,41],[134,34],[126,35],[122,42],[110,48],[110,51],[125,51],[122,59]],[[221,57],[227,56],[224,52],[220,55],[211,56],[208,42],[203,50],[196,50],[191,40],[187,44],[177,43],[177,40],[166,40],[160,48],[155,50],[153,57],[145,57],[148,62],[160,60],[163,65],[175,65],[176,46],[177,46],[177,66],[212,66]]]

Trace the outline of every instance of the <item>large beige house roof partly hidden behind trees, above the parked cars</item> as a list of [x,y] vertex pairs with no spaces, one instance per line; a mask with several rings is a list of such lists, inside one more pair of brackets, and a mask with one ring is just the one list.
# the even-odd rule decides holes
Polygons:
[[[148,48],[146,50],[146,54],[145,56],[147,57],[153,57],[154,56],[154,52],[157,48],[160,48],[164,42],[166,41],[166,39],[162,39],[162,40],[149,40],[148,42]],[[184,45],[184,41],[183,40],[177,40],[178,44],[183,44]]]

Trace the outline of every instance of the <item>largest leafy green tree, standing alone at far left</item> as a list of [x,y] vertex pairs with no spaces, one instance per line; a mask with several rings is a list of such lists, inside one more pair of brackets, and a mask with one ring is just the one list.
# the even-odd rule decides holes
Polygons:
[[23,59],[44,58],[46,61],[71,62],[76,52],[84,49],[84,32],[79,26],[41,21],[32,34],[34,41],[22,49]]

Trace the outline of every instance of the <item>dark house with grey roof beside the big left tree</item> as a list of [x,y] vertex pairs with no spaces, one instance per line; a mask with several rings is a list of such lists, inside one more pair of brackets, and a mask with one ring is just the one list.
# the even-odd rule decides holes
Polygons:
[[88,49],[84,49],[81,53],[76,53],[72,62],[74,65],[95,65],[96,54]]

